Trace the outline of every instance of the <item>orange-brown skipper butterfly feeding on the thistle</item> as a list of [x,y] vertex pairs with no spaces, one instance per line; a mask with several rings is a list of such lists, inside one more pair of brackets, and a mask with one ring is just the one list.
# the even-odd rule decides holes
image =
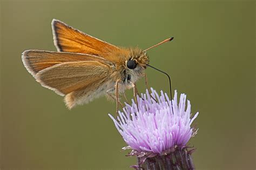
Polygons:
[[173,39],[168,38],[146,50],[114,46],[53,19],[53,41],[57,52],[26,50],[22,62],[43,87],[65,96],[66,106],[87,104],[100,96],[109,96],[118,104],[119,94],[146,78],[149,66],[146,51]]

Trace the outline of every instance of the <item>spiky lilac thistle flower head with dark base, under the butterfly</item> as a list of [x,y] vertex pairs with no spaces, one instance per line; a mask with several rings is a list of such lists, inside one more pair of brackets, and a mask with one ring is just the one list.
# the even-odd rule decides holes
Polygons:
[[[133,99],[131,105],[125,104],[123,112],[119,111],[117,120],[109,114],[118,132],[129,145],[123,149],[132,149],[129,155],[136,155],[139,159],[135,168],[150,167],[149,164],[158,165],[160,161],[166,164],[169,162],[170,167],[193,169],[190,151],[187,151],[186,144],[197,133],[191,124],[197,118],[198,112],[190,118],[191,105],[187,100],[185,110],[185,94],[180,95],[178,104],[177,91],[175,91],[173,107],[171,107],[171,101],[166,93],[161,91],[159,96],[152,88],[151,91],[151,94],[146,91],[141,98],[137,96],[138,105]],[[163,157],[164,155],[166,157]],[[147,161],[144,165],[145,160]],[[187,165],[179,161],[185,161]],[[167,166],[165,163],[163,163],[164,167]],[[178,165],[179,163],[181,165]]]

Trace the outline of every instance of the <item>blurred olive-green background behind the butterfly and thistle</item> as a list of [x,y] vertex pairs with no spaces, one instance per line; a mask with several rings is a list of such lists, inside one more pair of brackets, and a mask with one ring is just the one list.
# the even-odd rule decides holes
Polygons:
[[[24,50],[56,51],[51,21],[59,19],[118,46],[148,52],[186,93],[199,133],[197,169],[255,169],[254,1],[1,1],[1,169],[131,169],[135,158],[102,97],[69,111],[21,61]],[[150,86],[169,91],[164,74],[146,70]],[[138,82],[145,91],[144,80]],[[127,91],[131,98],[132,90]]]

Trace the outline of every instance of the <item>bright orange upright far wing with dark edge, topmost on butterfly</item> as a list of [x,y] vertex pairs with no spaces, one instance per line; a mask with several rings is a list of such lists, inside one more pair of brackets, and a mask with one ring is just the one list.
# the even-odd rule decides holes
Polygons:
[[108,58],[110,53],[120,50],[117,46],[89,36],[57,19],[52,20],[52,33],[58,51],[86,53]]

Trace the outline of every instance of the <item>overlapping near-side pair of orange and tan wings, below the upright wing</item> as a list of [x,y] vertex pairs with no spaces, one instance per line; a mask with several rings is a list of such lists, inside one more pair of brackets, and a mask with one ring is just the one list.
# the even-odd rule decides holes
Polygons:
[[61,96],[91,84],[96,86],[114,67],[108,60],[97,56],[40,50],[24,51],[22,62],[42,86]]

